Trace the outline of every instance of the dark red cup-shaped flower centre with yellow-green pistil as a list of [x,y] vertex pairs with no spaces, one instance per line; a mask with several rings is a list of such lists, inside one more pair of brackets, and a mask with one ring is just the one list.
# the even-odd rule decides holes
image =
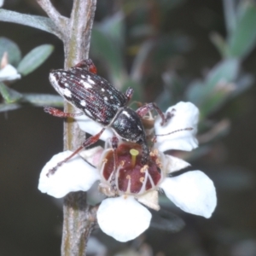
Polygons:
[[[142,165],[141,160],[140,145],[122,143],[117,148],[116,166],[114,166],[113,150],[109,150],[105,155],[102,176],[108,182],[110,179],[116,181],[116,187],[121,194],[143,194],[149,189],[154,189],[163,175],[156,151],[150,154],[147,165]],[[114,179],[112,175],[115,175]]]

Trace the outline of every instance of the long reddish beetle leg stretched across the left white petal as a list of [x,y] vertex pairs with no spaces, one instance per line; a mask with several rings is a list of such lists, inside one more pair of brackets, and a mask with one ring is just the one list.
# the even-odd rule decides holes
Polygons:
[[68,160],[72,159],[74,155],[79,154],[79,151],[81,151],[83,148],[87,148],[87,147],[89,147],[90,145],[96,143],[96,142],[100,139],[100,137],[101,137],[103,131],[105,131],[105,128],[103,128],[102,131],[98,132],[96,135],[91,136],[91,137],[89,137],[88,139],[86,139],[86,140],[84,141],[84,143],[82,144],[82,146],[80,146],[79,148],[77,148],[77,149],[73,152],[73,154],[70,154],[66,159],[61,160],[61,162],[58,162],[58,164],[57,164],[55,167],[51,168],[51,169],[49,170],[49,172],[48,172],[46,175],[49,177],[49,175],[54,174],[60,166],[62,166],[62,165],[63,165],[64,163],[66,163]]

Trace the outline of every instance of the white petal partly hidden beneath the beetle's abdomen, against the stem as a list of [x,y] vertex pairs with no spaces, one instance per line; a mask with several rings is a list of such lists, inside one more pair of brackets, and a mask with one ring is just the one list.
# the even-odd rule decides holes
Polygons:
[[[90,119],[85,114],[83,114],[79,117],[76,117],[75,119],[78,122],[79,128],[82,131],[88,132],[91,135],[96,135],[96,133],[102,131],[103,126],[98,124],[96,121]],[[100,139],[102,141],[106,141],[110,137],[113,137],[113,131],[111,131],[111,129],[106,129],[102,133]]]

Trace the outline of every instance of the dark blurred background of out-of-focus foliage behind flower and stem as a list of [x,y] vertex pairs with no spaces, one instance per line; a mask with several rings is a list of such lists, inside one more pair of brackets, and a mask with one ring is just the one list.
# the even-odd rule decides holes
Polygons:
[[[72,1],[53,2],[69,15]],[[133,86],[134,100],[157,102],[163,110],[181,100],[200,108],[201,147],[180,155],[192,170],[212,178],[218,207],[205,219],[163,200],[166,211],[183,218],[183,230],[152,227],[127,243],[100,230],[93,236],[106,255],[255,256],[256,5],[235,0],[98,2],[90,50],[98,73],[120,90]],[[33,0],[7,0],[4,8],[44,15]],[[63,67],[61,41],[5,22],[0,22],[0,37],[15,42],[22,56],[38,45],[54,45],[41,67],[10,87],[21,94],[55,94],[48,74]],[[60,255],[61,201],[41,194],[37,186],[44,163],[62,150],[63,120],[28,104],[3,111],[11,105],[4,96],[0,102],[0,255]]]

